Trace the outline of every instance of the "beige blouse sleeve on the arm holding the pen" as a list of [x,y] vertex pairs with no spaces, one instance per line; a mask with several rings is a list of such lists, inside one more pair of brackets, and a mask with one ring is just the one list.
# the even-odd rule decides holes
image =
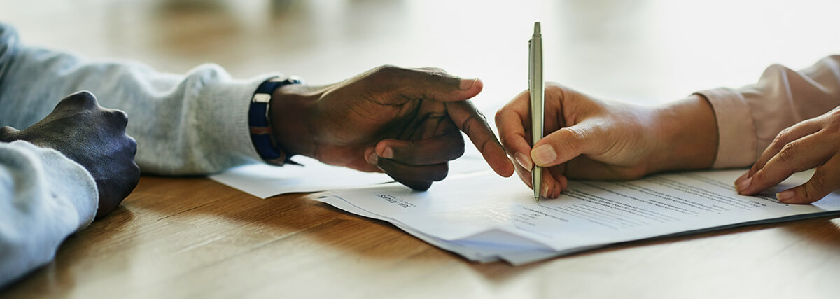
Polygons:
[[782,129],[840,106],[840,55],[793,71],[769,66],[758,83],[697,92],[717,118],[714,168],[745,167],[758,160]]

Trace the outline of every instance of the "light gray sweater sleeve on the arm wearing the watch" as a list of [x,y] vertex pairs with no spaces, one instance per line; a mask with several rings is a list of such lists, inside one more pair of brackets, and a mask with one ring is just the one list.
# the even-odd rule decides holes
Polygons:
[[202,65],[176,75],[122,60],[84,60],[23,45],[0,24],[0,125],[24,129],[72,92],[129,113],[145,173],[201,175],[259,161],[248,127],[249,99],[270,75],[235,80]]

